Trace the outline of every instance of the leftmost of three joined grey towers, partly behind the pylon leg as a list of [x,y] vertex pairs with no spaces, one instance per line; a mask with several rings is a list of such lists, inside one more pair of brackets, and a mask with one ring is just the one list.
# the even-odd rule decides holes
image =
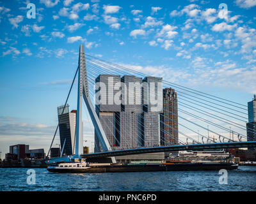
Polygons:
[[[120,75],[99,75],[95,79],[95,109],[102,128],[113,147],[119,146],[119,124],[121,112],[121,84]],[[117,98],[115,98],[117,96]],[[117,128],[116,128],[117,126]],[[95,132],[94,152],[101,152],[99,137]]]

